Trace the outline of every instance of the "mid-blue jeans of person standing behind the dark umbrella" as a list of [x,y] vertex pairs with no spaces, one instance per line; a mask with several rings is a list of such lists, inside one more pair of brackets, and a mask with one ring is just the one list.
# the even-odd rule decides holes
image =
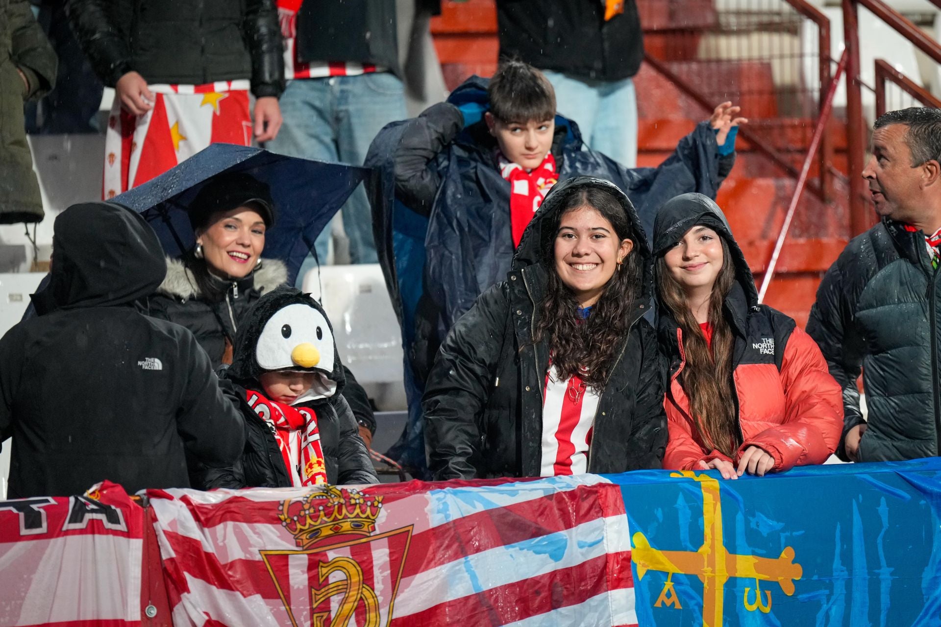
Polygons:
[[[291,157],[362,165],[376,133],[389,122],[405,119],[402,82],[391,72],[331,76],[291,81],[280,98],[284,123],[265,149]],[[375,263],[373,217],[366,191],[359,185],[343,205],[343,229],[353,263]],[[328,228],[317,237],[317,257],[327,259]],[[312,256],[297,274],[316,267]]]

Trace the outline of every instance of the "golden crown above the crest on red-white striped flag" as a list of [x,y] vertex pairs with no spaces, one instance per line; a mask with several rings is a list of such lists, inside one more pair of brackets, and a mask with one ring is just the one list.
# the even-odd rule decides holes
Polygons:
[[278,517],[297,546],[307,549],[331,536],[369,536],[375,531],[381,509],[382,496],[325,486],[321,492],[281,501]]

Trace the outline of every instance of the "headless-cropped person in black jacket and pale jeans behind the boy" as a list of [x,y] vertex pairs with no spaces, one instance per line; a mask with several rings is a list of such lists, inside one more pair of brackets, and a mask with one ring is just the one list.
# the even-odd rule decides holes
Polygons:
[[586,144],[637,165],[637,97],[631,77],[644,59],[634,0],[497,0],[500,55],[539,68],[558,111]]

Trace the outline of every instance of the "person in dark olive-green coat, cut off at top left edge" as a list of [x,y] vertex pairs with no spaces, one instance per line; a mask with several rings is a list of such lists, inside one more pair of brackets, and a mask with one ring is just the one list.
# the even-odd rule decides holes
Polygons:
[[56,53],[27,0],[0,0],[0,224],[40,222],[42,198],[23,104],[56,83]]

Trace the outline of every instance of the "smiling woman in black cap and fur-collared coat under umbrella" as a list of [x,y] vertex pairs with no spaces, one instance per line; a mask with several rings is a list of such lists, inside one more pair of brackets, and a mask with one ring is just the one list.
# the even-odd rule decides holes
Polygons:
[[148,315],[192,331],[216,368],[231,363],[248,308],[287,281],[283,263],[262,259],[275,218],[265,183],[245,173],[216,175],[189,208],[196,245],[183,259],[167,259],[167,278],[145,303]]

